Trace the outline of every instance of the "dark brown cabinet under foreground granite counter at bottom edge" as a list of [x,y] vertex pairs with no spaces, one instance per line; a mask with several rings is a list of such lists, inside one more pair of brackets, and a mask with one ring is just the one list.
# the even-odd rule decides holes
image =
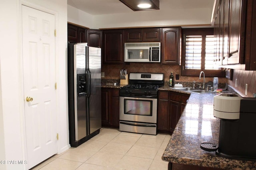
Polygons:
[[196,166],[196,165],[177,164],[177,163],[169,162],[168,170],[223,170],[223,169]]

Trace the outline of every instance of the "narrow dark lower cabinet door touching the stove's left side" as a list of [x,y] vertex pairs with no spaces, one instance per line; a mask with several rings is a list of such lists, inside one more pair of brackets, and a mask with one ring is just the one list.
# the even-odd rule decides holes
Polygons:
[[110,124],[119,128],[119,89],[111,89]]

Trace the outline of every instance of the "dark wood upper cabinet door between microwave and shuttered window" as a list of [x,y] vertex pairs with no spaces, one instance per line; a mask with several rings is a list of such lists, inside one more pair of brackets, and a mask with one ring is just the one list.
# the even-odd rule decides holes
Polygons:
[[180,28],[163,28],[161,41],[161,63],[180,64]]

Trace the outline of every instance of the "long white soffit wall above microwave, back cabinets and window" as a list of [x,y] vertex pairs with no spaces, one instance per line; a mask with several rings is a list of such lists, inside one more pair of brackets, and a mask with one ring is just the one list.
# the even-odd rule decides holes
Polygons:
[[[200,12],[199,12],[200,11]],[[69,13],[68,13],[69,14]],[[208,15],[207,15],[208,14]],[[138,11],[123,14],[94,16],[94,28],[146,27],[146,26],[180,26],[210,24],[209,9],[172,9],[168,12]]]

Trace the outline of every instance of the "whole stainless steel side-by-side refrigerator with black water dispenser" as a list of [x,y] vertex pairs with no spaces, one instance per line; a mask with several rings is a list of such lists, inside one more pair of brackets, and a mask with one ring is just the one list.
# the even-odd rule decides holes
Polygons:
[[101,128],[101,49],[68,43],[68,116],[71,147]]

